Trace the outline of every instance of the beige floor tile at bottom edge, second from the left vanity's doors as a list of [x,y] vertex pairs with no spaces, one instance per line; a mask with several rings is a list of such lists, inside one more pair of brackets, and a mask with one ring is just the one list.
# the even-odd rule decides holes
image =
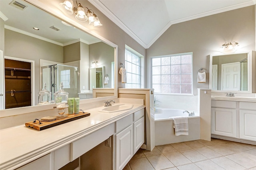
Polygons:
[[163,154],[148,156],[147,158],[156,170],[162,170],[162,169],[174,167],[174,164],[172,164],[172,162],[170,162],[170,160],[168,160]]

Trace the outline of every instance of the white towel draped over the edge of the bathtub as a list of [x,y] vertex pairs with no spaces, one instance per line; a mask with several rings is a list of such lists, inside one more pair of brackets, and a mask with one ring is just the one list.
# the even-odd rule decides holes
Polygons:
[[175,129],[175,136],[188,135],[188,117],[176,116],[173,118],[173,128]]

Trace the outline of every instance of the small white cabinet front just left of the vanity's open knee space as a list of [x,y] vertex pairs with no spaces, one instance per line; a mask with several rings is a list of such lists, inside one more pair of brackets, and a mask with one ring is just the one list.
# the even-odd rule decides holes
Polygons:
[[54,150],[54,170],[60,169],[62,166],[70,162],[70,144]]

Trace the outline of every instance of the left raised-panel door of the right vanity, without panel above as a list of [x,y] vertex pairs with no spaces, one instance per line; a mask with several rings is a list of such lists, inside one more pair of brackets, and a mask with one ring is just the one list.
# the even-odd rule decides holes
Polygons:
[[212,134],[228,137],[236,136],[236,109],[211,109]]

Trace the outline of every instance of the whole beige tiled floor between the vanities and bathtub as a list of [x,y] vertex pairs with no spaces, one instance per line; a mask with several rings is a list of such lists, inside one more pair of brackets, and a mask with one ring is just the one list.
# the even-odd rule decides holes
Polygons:
[[222,139],[139,149],[123,170],[256,170],[256,145]]

